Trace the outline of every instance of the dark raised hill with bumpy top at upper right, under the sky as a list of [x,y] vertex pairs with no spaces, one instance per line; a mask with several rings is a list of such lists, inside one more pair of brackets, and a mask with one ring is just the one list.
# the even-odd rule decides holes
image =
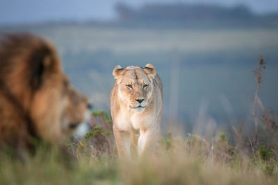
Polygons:
[[152,3],[132,8],[118,3],[117,24],[147,27],[268,27],[278,28],[278,13],[256,15],[246,6]]

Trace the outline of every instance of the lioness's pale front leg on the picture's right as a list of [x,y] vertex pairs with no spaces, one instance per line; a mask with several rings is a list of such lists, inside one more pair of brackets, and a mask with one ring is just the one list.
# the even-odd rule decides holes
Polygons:
[[140,130],[140,136],[138,139],[139,156],[154,153],[158,139],[157,136],[156,129]]

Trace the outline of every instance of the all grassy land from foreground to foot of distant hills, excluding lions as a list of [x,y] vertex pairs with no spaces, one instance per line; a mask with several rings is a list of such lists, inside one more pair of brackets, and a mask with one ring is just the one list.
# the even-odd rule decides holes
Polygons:
[[[42,145],[22,159],[1,152],[0,184],[278,184],[277,120],[267,108],[278,110],[277,30],[31,26],[0,33],[19,30],[54,41],[95,109],[108,111],[113,67],[152,62],[164,85],[165,128],[156,155],[119,161],[111,118],[95,110],[85,139],[69,139],[62,151]],[[259,54],[267,67],[254,100]]]

